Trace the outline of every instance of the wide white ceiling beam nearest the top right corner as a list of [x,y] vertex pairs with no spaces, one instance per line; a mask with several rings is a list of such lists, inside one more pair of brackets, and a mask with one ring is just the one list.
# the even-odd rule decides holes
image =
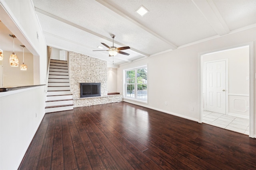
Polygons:
[[230,32],[228,25],[223,20],[212,0],[192,0],[192,2],[218,35],[222,36]]

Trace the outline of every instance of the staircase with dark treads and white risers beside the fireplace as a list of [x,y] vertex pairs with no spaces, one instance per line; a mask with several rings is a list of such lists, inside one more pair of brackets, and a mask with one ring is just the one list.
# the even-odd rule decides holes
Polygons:
[[68,77],[68,62],[50,60],[45,113],[73,109]]

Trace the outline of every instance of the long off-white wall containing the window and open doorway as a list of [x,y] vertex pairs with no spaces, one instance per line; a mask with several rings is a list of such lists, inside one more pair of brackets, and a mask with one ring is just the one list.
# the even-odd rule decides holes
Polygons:
[[[124,101],[198,121],[200,109],[198,102],[200,86],[198,82],[198,76],[200,76],[198,54],[254,42],[254,67],[256,68],[255,37],[256,28],[247,29],[124,64],[118,68],[117,79],[120,81],[118,81],[117,90],[124,94],[123,72],[125,69],[148,64],[148,104],[130,100]],[[256,86],[254,86],[255,97]],[[165,105],[165,102],[167,102],[167,105]],[[256,100],[254,100],[254,106],[256,106]],[[254,107],[254,113],[255,109]],[[256,118],[256,116],[254,117]],[[256,129],[256,126],[254,126],[254,129]]]

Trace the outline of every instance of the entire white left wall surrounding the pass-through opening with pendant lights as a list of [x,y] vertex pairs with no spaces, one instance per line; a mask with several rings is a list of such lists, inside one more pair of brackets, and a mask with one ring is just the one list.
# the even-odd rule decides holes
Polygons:
[[[34,82],[44,84],[47,47],[32,1],[0,0],[0,20],[34,55]],[[0,94],[1,170],[18,168],[44,116],[45,97],[44,86]]]

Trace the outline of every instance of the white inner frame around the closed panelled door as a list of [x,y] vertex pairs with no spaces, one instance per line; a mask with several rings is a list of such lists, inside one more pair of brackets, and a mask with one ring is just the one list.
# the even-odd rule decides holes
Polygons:
[[[204,55],[202,55],[203,58]],[[219,59],[219,60],[211,60],[211,61],[204,61],[204,69],[202,70],[203,72],[203,99],[204,99],[204,108],[206,110],[206,63],[214,63],[214,62],[219,62],[219,61],[226,61],[226,101],[225,101],[225,114],[228,115],[228,59]],[[202,80],[202,81],[203,81]]]

